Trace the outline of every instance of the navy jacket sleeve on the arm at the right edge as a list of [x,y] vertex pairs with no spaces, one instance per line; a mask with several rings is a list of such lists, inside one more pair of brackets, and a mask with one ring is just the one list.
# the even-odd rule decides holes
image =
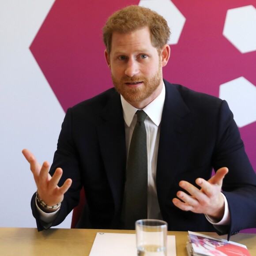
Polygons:
[[228,238],[242,229],[256,227],[256,174],[252,169],[240,132],[226,101],[219,112],[218,135],[213,155],[215,171],[227,167],[222,190],[229,205]]

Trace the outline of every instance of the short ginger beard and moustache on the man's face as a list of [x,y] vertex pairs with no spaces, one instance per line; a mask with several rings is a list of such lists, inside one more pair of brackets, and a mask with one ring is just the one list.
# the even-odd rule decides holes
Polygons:
[[[162,80],[162,67],[159,58],[158,71],[151,77],[144,76],[124,76],[121,80],[117,80],[111,72],[113,85],[117,92],[120,93],[127,102],[142,102],[157,89]],[[126,83],[143,82],[143,87],[132,88]]]

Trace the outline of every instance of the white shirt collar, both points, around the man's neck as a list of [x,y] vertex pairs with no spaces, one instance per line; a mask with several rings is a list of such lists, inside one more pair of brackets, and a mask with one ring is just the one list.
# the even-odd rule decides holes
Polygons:
[[[162,112],[165,102],[166,88],[163,84],[162,91],[150,104],[148,104],[143,110],[147,116],[154,122],[155,125],[159,126],[162,118]],[[121,102],[123,107],[124,121],[130,127],[132,119],[138,109],[127,102],[121,95]]]

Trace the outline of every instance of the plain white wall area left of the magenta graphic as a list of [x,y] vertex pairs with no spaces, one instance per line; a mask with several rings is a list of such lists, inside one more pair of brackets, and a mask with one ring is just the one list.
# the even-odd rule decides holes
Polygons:
[[[0,0],[0,226],[35,227],[28,148],[51,162],[64,111],[29,46],[54,0]],[[69,228],[71,214],[58,227]]]

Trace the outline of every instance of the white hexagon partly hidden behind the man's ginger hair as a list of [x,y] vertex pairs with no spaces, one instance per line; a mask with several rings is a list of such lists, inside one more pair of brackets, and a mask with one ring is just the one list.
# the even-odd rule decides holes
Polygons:
[[150,8],[162,15],[166,19],[171,30],[171,36],[168,44],[175,45],[178,43],[186,19],[172,1],[140,0],[139,6]]

